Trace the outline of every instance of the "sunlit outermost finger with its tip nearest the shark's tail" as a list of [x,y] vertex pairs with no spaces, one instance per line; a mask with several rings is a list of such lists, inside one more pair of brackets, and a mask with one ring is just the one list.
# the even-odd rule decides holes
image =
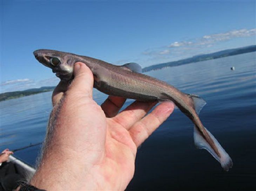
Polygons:
[[163,102],[130,128],[129,133],[137,147],[170,116],[173,109],[172,102]]

